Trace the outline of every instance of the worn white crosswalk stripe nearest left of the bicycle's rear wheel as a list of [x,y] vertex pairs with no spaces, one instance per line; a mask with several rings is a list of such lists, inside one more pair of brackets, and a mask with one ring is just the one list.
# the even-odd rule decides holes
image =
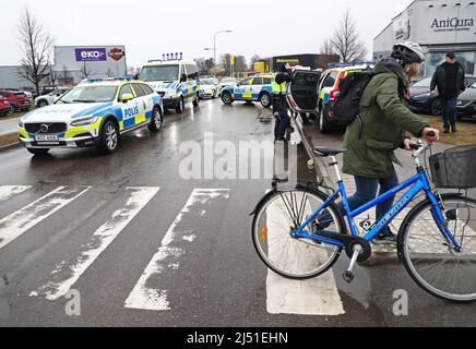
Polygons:
[[[176,260],[183,255],[186,251],[174,248],[171,243],[176,239],[189,241],[191,243],[194,241],[195,236],[192,230],[179,231],[177,227],[182,221],[183,216],[189,214],[194,205],[203,206],[210,203],[211,200],[217,197],[229,198],[229,190],[195,189],[193,191],[187,204],[167,230],[157,253],[152,257],[141,278],[124,301],[124,308],[151,311],[170,310],[167,299],[167,290],[147,287],[147,281],[153,275],[162,274],[167,268],[175,270],[180,266]],[[202,207],[199,207],[198,212],[202,212],[201,209]],[[168,263],[167,258],[170,257],[175,260]]]

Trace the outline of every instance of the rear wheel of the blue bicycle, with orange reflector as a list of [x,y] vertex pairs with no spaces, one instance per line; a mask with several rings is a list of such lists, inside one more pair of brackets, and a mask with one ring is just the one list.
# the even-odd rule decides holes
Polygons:
[[[258,208],[252,239],[260,258],[270,269],[285,278],[302,280],[322,275],[334,265],[342,249],[291,237],[326,198],[319,190],[298,188],[274,193]],[[325,230],[346,233],[344,219],[335,206],[328,210]],[[309,224],[306,230],[316,232],[316,224]]]

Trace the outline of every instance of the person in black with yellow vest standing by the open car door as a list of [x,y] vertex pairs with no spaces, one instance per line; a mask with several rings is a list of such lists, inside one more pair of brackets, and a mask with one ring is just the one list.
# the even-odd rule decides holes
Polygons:
[[289,64],[282,65],[275,77],[276,91],[273,91],[273,115],[276,118],[274,128],[275,141],[285,141],[287,129],[290,128],[290,119],[288,116],[288,106],[286,101],[287,84],[293,81],[293,69]]

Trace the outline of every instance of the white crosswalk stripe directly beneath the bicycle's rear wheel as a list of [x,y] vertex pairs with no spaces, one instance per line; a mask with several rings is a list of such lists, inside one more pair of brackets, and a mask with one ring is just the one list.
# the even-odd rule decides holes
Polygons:
[[[287,224],[287,220],[277,208],[274,209],[273,207],[269,208],[269,210],[266,217],[267,240],[272,241],[273,237],[276,237],[278,232],[276,227],[278,225],[283,227],[283,225]],[[306,212],[312,212],[309,202],[307,203]],[[305,244],[297,245],[296,253],[306,253],[306,249]],[[311,265],[318,265],[317,263],[322,264],[320,261],[328,260],[325,250],[314,250],[317,252],[316,255],[312,255],[306,262]],[[276,248],[276,243],[270,245],[270,255],[273,255],[273,253],[282,254],[282,252],[283,249]],[[332,270],[317,278],[302,281],[286,279],[269,270],[266,278],[266,309],[270,314],[319,316],[345,314]]]

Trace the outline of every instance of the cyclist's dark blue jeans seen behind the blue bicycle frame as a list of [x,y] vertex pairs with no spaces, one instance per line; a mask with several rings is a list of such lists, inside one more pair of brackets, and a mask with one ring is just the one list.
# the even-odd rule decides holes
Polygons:
[[[376,198],[379,186],[379,195],[382,195],[391,189],[397,186],[398,177],[396,176],[395,168],[393,167],[390,178],[378,179],[356,176],[355,183],[357,186],[357,191],[353,196],[348,197],[348,205],[350,207],[350,210],[355,210]],[[377,205],[377,221],[379,221],[392,208],[395,196],[392,196],[389,200]],[[346,215],[343,202],[340,202],[337,204],[337,208],[342,213],[342,215]],[[318,221],[325,229],[326,226],[329,227],[329,225],[332,224],[333,219],[329,212],[324,210],[318,217]]]

